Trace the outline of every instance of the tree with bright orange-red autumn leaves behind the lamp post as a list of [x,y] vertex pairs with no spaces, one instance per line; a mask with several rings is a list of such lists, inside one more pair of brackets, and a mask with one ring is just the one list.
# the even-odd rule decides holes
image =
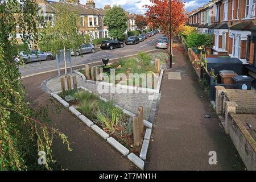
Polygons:
[[[153,27],[160,27],[164,34],[170,33],[169,0],[150,0],[153,5],[145,5],[148,8],[146,16]],[[187,20],[184,3],[181,0],[171,1],[172,34],[180,32],[181,25]]]

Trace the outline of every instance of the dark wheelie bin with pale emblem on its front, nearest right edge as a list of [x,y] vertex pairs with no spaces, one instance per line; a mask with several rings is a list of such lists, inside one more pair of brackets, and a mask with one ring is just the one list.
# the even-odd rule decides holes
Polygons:
[[251,82],[254,81],[253,78],[244,75],[238,75],[233,77],[233,80],[236,82],[236,89],[250,90]]

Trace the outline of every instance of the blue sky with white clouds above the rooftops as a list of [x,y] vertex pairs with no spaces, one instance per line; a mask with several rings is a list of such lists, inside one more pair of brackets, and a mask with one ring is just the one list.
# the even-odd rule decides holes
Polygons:
[[[147,9],[143,5],[151,5],[150,0],[94,0],[96,7],[104,8],[105,5],[121,5],[125,10],[130,11],[130,13],[144,14]],[[184,0],[182,0],[184,1]],[[197,9],[209,2],[209,0],[188,0],[185,2],[185,10],[192,11]],[[86,0],[80,0],[80,3],[85,4]]]

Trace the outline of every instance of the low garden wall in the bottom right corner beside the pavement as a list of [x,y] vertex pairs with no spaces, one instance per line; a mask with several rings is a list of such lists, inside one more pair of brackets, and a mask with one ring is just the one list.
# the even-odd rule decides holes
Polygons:
[[256,171],[256,142],[241,122],[243,115],[229,113],[229,136],[247,170]]

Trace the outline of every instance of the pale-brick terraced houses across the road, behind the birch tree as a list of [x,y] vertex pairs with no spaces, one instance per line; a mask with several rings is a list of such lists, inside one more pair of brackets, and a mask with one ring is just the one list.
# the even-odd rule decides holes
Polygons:
[[[36,0],[40,10],[39,15],[43,16],[46,22],[54,22],[55,18],[55,6],[56,1],[46,1],[46,0]],[[80,28],[79,31],[81,34],[89,34],[92,39],[97,38],[108,38],[109,31],[108,27],[104,26],[103,17],[105,12],[111,9],[109,5],[105,6],[105,9],[97,9],[93,0],[86,1],[85,5],[82,5],[79,1],[77,3],[69,3],[69,10],[80,15]],[[18,27],[17,27],[18,28]],[[39,24],[39,28],[42,28]],[[63,27],[64,28],[64,27]],[[20,41],[20,35],[16,35],[17,39]]]

